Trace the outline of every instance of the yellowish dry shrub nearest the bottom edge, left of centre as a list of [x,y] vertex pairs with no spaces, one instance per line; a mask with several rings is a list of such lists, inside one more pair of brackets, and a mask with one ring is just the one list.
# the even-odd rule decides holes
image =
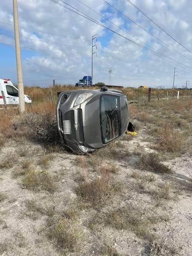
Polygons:
[[83,233],[76,218],[71,218],[70,215],[53,217],[49,219],[50,225],[47,236],[60,250],[64,253],[81,250]]

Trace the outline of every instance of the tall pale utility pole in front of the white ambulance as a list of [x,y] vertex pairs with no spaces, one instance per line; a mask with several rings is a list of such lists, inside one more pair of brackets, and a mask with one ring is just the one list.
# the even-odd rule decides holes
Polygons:
[[15,53],[16,53],[16,61],[17,61],[17,83],[18,83],[18,91],[19,91],[19,110],[20,110],[20,113],[23,113],[25,111],[25,99],[24,99],[24,88],[23,88],[22,64],[21,64],[21,56],[20,56],[20,38],[19,38],[17,0],[13,0],[13,15],[14,15],[14,32],[15,32]]

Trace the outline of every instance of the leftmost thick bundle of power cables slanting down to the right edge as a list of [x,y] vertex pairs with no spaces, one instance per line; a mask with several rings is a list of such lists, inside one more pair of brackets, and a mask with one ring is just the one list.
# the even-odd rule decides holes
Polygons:
[[[169,57],[164,58],[164,57],[162,57],[158,52],[155,52],[155,51],[150,50],[150,49],[148,49],[148,48],[146,48],[146,47],[143,47],[141,44],[138,44],[137,42],[131,40],[130,38],[127,38],[127,37],[125,37],[125,36],[119,34],[118,32],[115,32],[113,29],[110,29],[110,28],[108,28],[107,26],[103,25],[102,23],[99,23],[97,20],[94,20],[93,18],[91,18],[90,16],[84,14],[83,12],[81,12],[81,11],[79,11],[78,9],[74,8],[73,6],[71,6],[71,7],[72,7],[73,9],[75,9],[77,12],[74,11],[73,9],[70,9],[70,8],[67,7],[67,6],[62,5],[61,3],[58,3],[58,2],[55,1],[55,0],[49,0],[49,1],[52,1],[53,3],[56,3],[56,4],[58,4],[58,5],[60,5],[60,6],[64,7],[64,8],[66,8],[66,9],[70,10],[71,12],[76,13],[77,15],[86,18],[87,20],[90,20],[90,21],[92,21],[92,22],[98,24],[99,26],[102,26],[102,27],[104,27],[105,29],[108,29],[109,31],[115,33],[116,35],[119,35],[119,36],[121,36],[122,38],[125,38],[126,40],[132,42],[133,44],[136,44],[137,46],[139,46],[139,47],[141,47],[141,48],[147,50],[148,52],[151,52],[152,54],[154,54],[154,55],[156,55],[156,56],[158,56],[158,57],[160,57],[160,58],[162,58],[162,59],[164,59],[164,60],[166,60],[166,61],[169,61],[169,62],[173,63],[172,61],[166,59],[166,58],[169,58]],[[62,1],[62,0],[61,0],[61,1]],[[64,1],[62,1],[62,2],[64,2]],[[69,4],[67,4],[67,5],[70,6]],[[80,13],[79,13],[79,12],[80,12]],[[165,55],[164,55],[164,56],[165,56]],[[174,60],[174,61],[175,61],[175,60]],[[175,61],[175,62],[178,63],[177,61]],[[183,66],[185,66],[186,68],[191,69],[191,67],[187,67],[185,64],[183,64]],[[181,66],[181,67],[182,67],[182,66]],[[183,67],[183,68],[184,68],[184,67]]]

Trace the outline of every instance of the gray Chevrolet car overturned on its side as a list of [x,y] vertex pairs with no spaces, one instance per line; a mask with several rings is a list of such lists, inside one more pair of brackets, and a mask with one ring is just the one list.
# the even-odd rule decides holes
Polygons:
[[61,92],[56,114],[62,143],[76,153],[89,153],[116,140],[130,118],[126,95],[107,87]]

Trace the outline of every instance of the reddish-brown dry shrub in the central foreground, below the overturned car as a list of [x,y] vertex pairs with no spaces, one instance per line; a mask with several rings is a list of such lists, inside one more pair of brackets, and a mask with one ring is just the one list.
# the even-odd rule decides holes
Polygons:
[[84,181],[77,189],[76,194],[93,207],[103,204],[114,192],[115,184],[109,174],[92,181]]

